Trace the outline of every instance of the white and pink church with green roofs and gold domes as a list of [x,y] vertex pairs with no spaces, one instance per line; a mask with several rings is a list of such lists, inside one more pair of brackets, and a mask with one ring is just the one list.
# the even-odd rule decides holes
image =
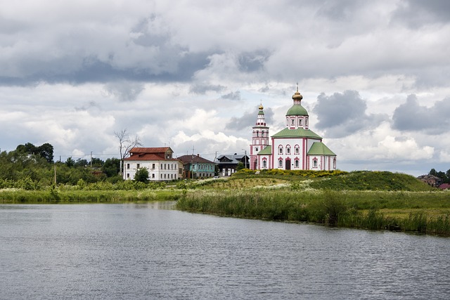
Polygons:
[[264,107],[259,105],[255,126],[252,127],[250,169],[335,170],[336,155],[318,134],[309,129],[309,116],[302,107],[303,96],[293,95],[293,106],[286,112],[285,129],[269,137],[264,119]]

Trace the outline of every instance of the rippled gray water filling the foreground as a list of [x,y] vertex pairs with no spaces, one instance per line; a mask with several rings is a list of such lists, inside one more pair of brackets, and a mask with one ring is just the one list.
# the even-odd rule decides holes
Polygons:
[[171,203],[0,205],[0,299],[448,299],[450,240]]

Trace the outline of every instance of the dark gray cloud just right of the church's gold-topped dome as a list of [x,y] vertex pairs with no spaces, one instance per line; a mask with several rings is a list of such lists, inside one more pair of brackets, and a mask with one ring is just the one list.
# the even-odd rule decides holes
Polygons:
[[366,114],[366,101],[358,91],[333,93],[331,96],[321,93],[317,101],[313,109],[319,119],[316,127],[326,129],[328,136],[333,138],[374,128],[388,119],[387,115]]

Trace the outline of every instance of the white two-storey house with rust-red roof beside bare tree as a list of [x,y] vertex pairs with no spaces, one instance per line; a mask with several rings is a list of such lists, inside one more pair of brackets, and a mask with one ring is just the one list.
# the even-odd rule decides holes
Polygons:
[[172,181],[181,178],[183,163],[172,157],[170,147],[132,148],[130,156],[124,159],[124,179],[134,179],[140,168],[148,169],[150,181]]

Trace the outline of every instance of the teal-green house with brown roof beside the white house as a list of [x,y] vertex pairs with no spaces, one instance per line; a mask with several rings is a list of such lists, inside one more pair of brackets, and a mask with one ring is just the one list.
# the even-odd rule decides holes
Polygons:
[[214,177],[216,164],[198,155],[183,155],[177,157],[184,165],[184,178]]

